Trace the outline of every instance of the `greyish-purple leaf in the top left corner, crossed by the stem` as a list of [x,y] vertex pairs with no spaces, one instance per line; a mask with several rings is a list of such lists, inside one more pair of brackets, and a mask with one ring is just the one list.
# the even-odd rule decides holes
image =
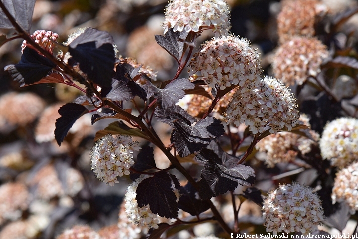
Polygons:
[[[1,0],[16,22],[29,32],[36,0]],[[15,29],[2,9],[0,9],[0,28]]]

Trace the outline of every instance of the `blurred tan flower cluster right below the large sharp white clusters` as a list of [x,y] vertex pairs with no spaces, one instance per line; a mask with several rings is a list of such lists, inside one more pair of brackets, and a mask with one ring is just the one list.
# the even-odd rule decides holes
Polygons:
[[[310,127],[309,119],[306,115],[302,114],[299,121],[300,124]],[[256,144],[256,148],[259,151],[266,153],[265,163],[268,167],[272,168],[276,163],[294,161],[298,151],[301,154],[311,151],[311,145],[317,142],[319,135],[310,129],[302,131],[311,139],[295,133],[279,132],[263,138]],[[295,150],[296,148],[298,151]]]

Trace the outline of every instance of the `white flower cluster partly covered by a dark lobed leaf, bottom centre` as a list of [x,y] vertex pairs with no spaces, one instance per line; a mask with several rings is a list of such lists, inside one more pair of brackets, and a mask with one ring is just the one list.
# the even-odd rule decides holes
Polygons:
[[142,230],[147,231],[150,228],[158,228],[159,216],[152,213],[149,205],[139,207],[137,204],[137,200],[135,199],[137,195],[136,190],[143,179],[144,177],[141,176],[128,186],[127,192],[124,196],[124,201],[125,212],[127,214],[128,220],[138,225],[140,228],[142,228]]

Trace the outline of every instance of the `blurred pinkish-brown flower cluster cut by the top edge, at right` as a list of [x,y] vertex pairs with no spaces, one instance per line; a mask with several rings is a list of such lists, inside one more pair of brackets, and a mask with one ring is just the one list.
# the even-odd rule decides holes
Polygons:
[[292,36],[314,36],[316,17],[325,9],[318,0],[284,0],[281,4],[282,10],[277,16],[280,43]]

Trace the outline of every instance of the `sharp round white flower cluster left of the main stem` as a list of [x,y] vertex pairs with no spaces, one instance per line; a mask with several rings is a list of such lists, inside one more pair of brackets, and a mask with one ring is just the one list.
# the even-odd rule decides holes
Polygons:
[[134,164],[133,152],[140,149],[138,143],[128,135],[107,134],[97,140],[90,152],[92,170],[97,178],[114,186],[119,183],[118,176],[129,175],[129,168]]

